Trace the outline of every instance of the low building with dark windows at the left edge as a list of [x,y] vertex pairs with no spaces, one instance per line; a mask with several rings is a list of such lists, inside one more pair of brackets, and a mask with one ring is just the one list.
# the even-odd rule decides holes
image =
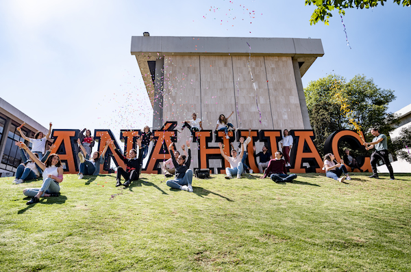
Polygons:
[[[25,141],[16,130],[23,122],[26,124],[21,130],[27,137],[33,138],[37,131],[48,133],[47,128],[0,98],[0,176],[14,176],[16,167],[21,163],[20,152],[14,143]],[[32,145],[27,141],[25,144]]]

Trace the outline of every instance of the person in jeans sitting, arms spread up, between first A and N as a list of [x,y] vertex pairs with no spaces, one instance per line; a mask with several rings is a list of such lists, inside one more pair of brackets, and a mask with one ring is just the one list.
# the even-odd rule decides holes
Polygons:
[[[100,165],[104,163],[105,152],[112,142],[114,142],[114,140],[106,141],[103,152],[101,152],[101,154],[97,151],[92,153],[92,158],[90,159],[86,148],[82,145],[82,141],[77,139],[77,144],[79,144],[79,147],[82,150],[82,152],[79,152],[78,154],[80,160],[79,180],[84,176],[98,176],[100,174]],[[84,154],[86,154],[86,158],[84,158]]]

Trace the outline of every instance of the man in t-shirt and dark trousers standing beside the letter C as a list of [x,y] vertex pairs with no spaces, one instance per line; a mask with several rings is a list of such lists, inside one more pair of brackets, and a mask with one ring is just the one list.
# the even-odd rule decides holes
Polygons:
[[365,143],[366,150],[375,148],[375,151],[371,154],[373,174],[369,176],[369,178],[378,178],[377,163],[379,160],[382,160],[390,172],[390,179],[394,180],[393,166],[391,166],[390,159],[388,158],[387,137],[386,135],[379,133],[377,128],[371,128],[371,134],[374,136],[373,141],[371,143]]

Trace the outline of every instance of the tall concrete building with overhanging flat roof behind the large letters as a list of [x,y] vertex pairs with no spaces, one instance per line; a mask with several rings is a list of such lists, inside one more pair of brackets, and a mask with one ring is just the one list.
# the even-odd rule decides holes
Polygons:
[[[190,120],[204,129],[221,113],[236,127],[310,129],[301,77],[324,55],[319,39],[132,37],[153,128]],[[251,77],[252,74],[252,77]]]

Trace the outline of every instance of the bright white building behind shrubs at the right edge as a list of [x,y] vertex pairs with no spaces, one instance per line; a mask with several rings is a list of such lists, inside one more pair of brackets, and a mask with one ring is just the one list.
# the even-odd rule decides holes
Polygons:
[[[390,132],[390,137],[391,139],[395,139],[395,137],[399,136],[399,132],[403,128],[408,128],[411,126],[411,104],[403,107],[399,111],[395,111],[395,115],[399,115],[399,124],[395,126],[395,129]],[[411,148],[408,146],[408,148]],[[406,147],[404,147],[404,150],[406,150]],[[408,152],[408,150],[406,150]],[[390,156],[391,158],[392,156]],[[391,165],[393,165],[393,170],[394,173],[411,173],[411,163],[408,163],[408,161],[405,161],[403,159],[399,159],[397,161],[391,162]],[[388,173],[388,168],[386,165],[380,165],[377,167],[378,172],[382,173]]]

